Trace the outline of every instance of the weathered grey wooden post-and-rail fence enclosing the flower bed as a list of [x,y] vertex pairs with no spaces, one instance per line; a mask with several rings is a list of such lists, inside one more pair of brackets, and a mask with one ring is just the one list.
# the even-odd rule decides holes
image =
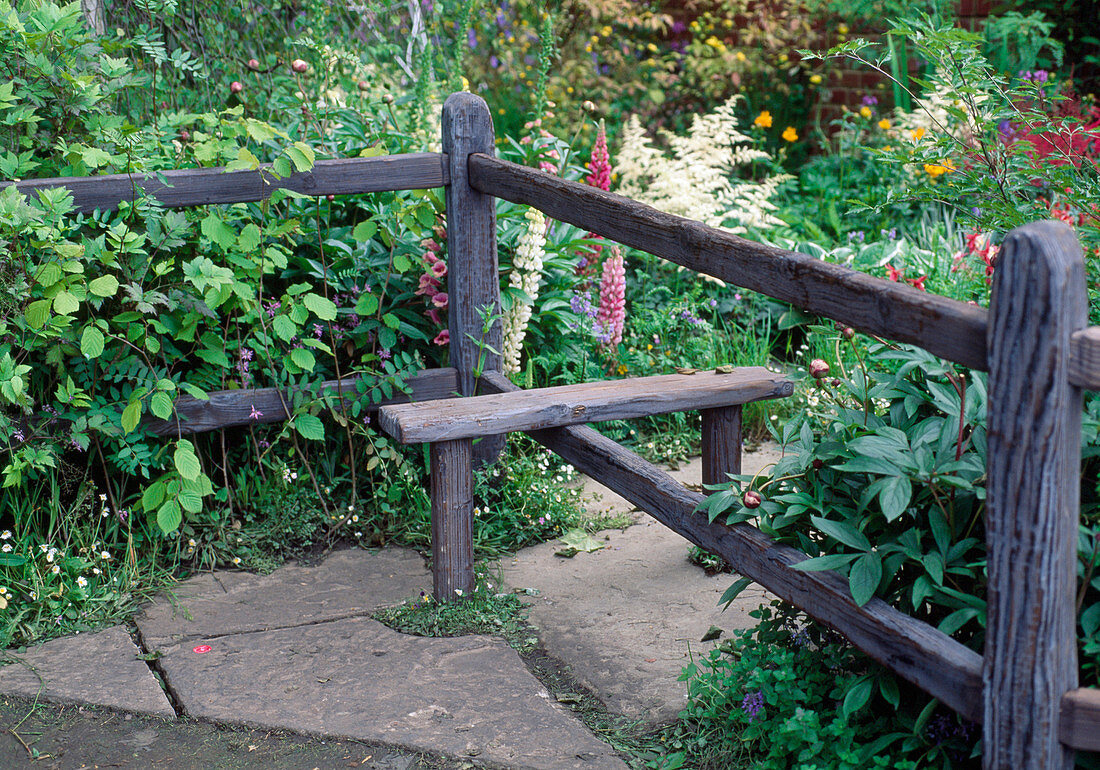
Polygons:
[[[451,369],[410,381],[413,400],[517,391],[490,353],[479,362],[480,310],[499,307],[495,198],[645,250],[684,267],[757,290],[858,330],[913,343],[949,361],[988,371],[988,626],[985,654],[903,615],[880,600],[857,606],[835,572],[804,572],[805,554],[747,524],[725,526],[695,513],[703,496],[656,465],[583,425],[529,435],[741,574],[846,636],[961,716],[982,723],[985,768],[1066,769],[1075,749],[1100,750],[1100,690],[1077,685],[1075,615],[1082,388],[1100,388],[1100,328],[1086,328],[1084,256],[1057,222],[1012,231],[1001,249],[989,310],[900,283],[761,245],[610,193],[493,156],[485,103],[452,95],[443,108],[443,153],[322,161],[278,182],[261,172],[179,170],[18,183],[20,189],[66,186],[78,209],[114,209],[139,188],[169,207],[261,200],[273,184],[309,195],[446,187],[451,297]],[[501,350],[501,324],[487,345]],[[482,376],[475,380],[475,371]],[[349,381],[327,383],[338,393]],[[393,400],[407,400],[398,398]],[[286,419],[273,388],[180,398],[176,417],[150,422],[162,435]],[[576,420],[572,420],[576,421]],[[706,421],[706,420],[705,420]],[[712,421],[713,422],[713,421]],[[738,430],[727,421],[723,430]],[[713,432],[713,454],[732,452]],[[706,437],[704,437],[706,438]],[[462,439],[461,441],[469,441]],[[435,501],[458,495],[446,520],[432,512],[437,587],[472,581],[466,455],[432,443]],[[503,436],[476,450],[492,458]],[[739,442],[739,435],[738,435]],[[719,444],[722,444],[719,447]],[[457,461],[458,464],[454,464]],[[451,463],[449,465],[449,463]],[[715,471],[712,471],[712,475]],[[452,484],[453,488],[442,488]],[[458,582],[455,582],[458,581]]]

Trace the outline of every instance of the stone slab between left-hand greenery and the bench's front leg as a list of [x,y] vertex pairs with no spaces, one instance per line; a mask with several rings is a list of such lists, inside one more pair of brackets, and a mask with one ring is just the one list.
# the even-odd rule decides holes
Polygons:
[[178,585],[135,618],[145,646],[270,630],[366,615],[431,591],[424,559],[406,549],[330,553],[316,566],[270,575],[219,572]]

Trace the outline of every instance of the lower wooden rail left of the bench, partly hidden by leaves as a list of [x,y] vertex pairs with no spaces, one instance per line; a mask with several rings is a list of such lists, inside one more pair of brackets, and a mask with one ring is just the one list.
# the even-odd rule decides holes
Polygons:
[[[459,375],[453,369],[432,369],[414,374],[405,381],[405,384],[410,388],[410,393],[395,393],[392,398],[383,398],[372,404],[367,410],[375,411],[383,404],[451,398],[458,393]],[[338,397],[341,394],[356,397],[359,377],[330,380],[321,385],[321,391]],[[142,425],[157,436],[187,436],[242,425],[282,422],[289,418],[283,408],[284,398],[287,404],[294,403],[290,394],[280,396],[278,389],[274,387],[215,391],[208,395],[208,400],[182,396],[176,399],[176,419],[162,420],[146,415]],[[253,408],[262,413],[258,418],[252,417]]]

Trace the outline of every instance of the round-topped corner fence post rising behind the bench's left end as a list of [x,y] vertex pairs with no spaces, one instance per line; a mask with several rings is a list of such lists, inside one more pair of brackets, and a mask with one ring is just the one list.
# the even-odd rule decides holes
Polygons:
[[[496,258],[496,201],[470,186],[469,158],[495,152],[493,117],[483,99],[461,91],[443,103],[443,152],[450,184],[447,186],[447,288],[450,294],[451,365],[459,371],[459,391],[472,396],[475,370],[499,372],[504,349],[501,314],[501,276]],[[483,314],[495,319],[483,333]],[[484,438],[474,449],[475,463],[494,462],[504,449],[504,437]]]

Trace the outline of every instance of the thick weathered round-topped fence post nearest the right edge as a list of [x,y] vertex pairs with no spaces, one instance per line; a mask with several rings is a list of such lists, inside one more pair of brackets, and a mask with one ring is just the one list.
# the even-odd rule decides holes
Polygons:
[[1074,605],[1081,392],[1069,336],[1085,327],[1085,263],[1060,222],[1001,246],[989,323],[988,625],[982,767],[1070,770],[1059,704],[1077,686]]

